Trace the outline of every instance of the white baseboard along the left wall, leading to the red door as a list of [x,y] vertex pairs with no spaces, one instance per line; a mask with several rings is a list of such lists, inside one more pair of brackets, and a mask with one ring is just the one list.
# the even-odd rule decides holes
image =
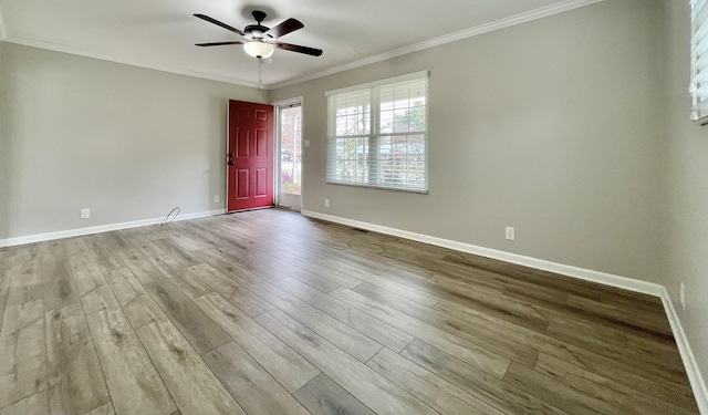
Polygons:
[[[222,215],[225,212],[226,212],[225,209],[217,209],[217,210],[198,211],[194,214],[180,214],[177,216],[177,218],[175,218],[175,220],[205,218],[207,216]],[[80,237],[82,235],[108,232],[111,230],[137,228],[140,226],[157,225],[157,224],[160,224],[163,219],[164,218],[142,219],[142,220],[133,220],[129,222],[100,225],[100,226],[92,226],[87,228],[67,229],[67,230],[60,230],[56,232],[37,234],[37,235],[29,235],[25,237],[0,239],[0,248],[12,247],[15,245],[42,242],[45,240]]]

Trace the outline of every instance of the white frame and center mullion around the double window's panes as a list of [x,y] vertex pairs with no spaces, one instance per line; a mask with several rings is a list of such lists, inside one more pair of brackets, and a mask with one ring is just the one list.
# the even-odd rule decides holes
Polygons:
[[[415,85],[415,83],[423,82],[423,92],[424,92],[424,107],[425,113],[423,114],[424,118],[424,131],[406,131],[406,132],[383,132],[381,125],[381,105],[382,105],[382,89],[395,87],[395,85],[408,84]],[[367,128],[364,128],[364,132],[356,131],[356,134],[345,134],[337,135],[337,107],[335,106],[335,100],[339,97],[341,100],[345,100],[348,96],[364,94],[368,96],[367,106],[361,111],[361,114],[367,115],[367,118],[364,121],[364,125],[367,125]],[[340,186],[353,186],[353,187],[364,187],[364,188],[374,188],[374,189],[384,189],[384,190],[394,190],[394,191],[406,191],[406,193],[416,193],[416,194],[428,194],[429,190],[429,147],[428,147],[428,135],[429,135],[429,72],[420,71],[410,73],[407,75],[389,77],[376,82],[371,82],[366,84],[354,85],[350,87],[344,87],[340,90],[327,91],[325,93],[327,98],[327,154],[326,154],[326,183],[331,185],[340,185]],[[357,95],[358,96],[358,95]],[[419,96],[419,95],[418,95]],[[408,95],[410,100],[410,94]],[[393,100],[393,98],[392,98]],[[386,102],[386,101],[384,101]],[[392,103],[395,101],[391,101]],[[410,104],[406,111],[413,108],[415,104]],[[392,111],[393,112],[393,111]],[[358,113],[358,112],[357,112]],[[382,177],[379,176],[381,165],[385,163],[385,159],[379,158],[379,145],[382,143],[382,138],[386,137],[407,137],[407,136],[423,136],[423,185],[421,186],[410,186],[407,184],[404,185],[394,185],[394,184],[385,184],[382,183]],[[355,139],[355,146],[358,147],[358,139],[363,139],[366,145],[366,157],[362,162],[364,162],[366,173],[363,175],[365,179],[363,181],[356,181],[357,174],[355,173],[355,177],[353,180],[341,180],[336,179],[336,164],[337,164],[337,143],[342,139]],[[392,142],[393,143],[393,142]],[[364,144],[362,144],[364,145]],[[355,148],[356,148],[355,147]],[[392,144],[393,147],[393,144]],[[409,146],[406,143],[406,157],[408,157]],[[356,151],[355,151],[356,152]],[[353,159],[354,163],[358,165],[358,159],[355,157]],[[351,162],[350,160],[350,162]],[[408,162],[408,160],[406,160]],[[406,166],[405,170],[406,175],[408,174],[408,167]],[[409,180],[409,178],[408,178]]]

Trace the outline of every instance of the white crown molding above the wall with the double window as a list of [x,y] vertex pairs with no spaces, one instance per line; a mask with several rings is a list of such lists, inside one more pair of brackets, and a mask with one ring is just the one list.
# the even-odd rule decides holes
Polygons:
[[423,51],[426,49],[439,46],[450,42],[457,42],[458,40],[473,38],[480,34],[493,32],[496,30],[510,28],[517,24],[527,23],[533,20],[539,20],[543,18],[548,18],[551,15],[564,13],[566,11],[580,9],[586,6],[595,4],[604,0],[568,0],[560,3],[555,3],[552,6],[546,6],[540,9],[531,10],[524,13],[516,14],[509,18],[500,19],[493,22],[480,24],[473,28],[460,30],[459,32],[446,34],[439,38],[434,38],[430,40],[426,40],[419,43],[415,43],[408,46],[404,46],[400,49],[395,49],[389,52],[384,52],[374,56],[368,56],[361,59],[358,61],[345,63],[343,65],[333,66],[324,71],[315,72],[308,76],[298,77],[291,81],[285,81],[281,83],[275,83],[271,85],[264,85],[266,90],[277,90],[285,86],[292,86],[302,82],[316,80],[320,77],[333,75],[335,73],[348,71],[355,68],[361,68],[365,65],[369,65],[372,63],[377,63],[382,61],[386,61],[392,58],[402,56],[404,54]]

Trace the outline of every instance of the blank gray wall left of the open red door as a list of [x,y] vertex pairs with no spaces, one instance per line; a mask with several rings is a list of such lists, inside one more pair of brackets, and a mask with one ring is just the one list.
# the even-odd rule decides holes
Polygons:
[[0,71],[0,239],[223,208],[227,101],[268,102],[12,43]]

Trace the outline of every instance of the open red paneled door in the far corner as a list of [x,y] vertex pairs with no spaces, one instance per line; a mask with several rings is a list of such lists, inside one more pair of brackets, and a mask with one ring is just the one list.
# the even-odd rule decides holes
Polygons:
[[273,107],[229,101],[227,211],[273,205]]

